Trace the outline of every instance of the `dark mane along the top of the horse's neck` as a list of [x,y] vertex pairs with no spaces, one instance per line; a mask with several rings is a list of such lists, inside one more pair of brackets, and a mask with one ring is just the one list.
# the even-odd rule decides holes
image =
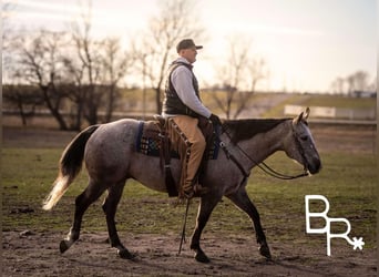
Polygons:
[[265,133],[288,119],[254,119],[228,120],[223,126],[232,136],[232,143],[248,140],[259,133]]

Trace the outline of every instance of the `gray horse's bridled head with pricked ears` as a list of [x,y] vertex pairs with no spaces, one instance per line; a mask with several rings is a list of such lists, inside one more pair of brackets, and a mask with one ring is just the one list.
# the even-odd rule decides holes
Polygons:
[[288,138],[285,151],[289,157],[303,164],[307,172],[316,174],[321,170],[321,161],[308,127],[308,116],[309,107],[291,121],[293,135]]

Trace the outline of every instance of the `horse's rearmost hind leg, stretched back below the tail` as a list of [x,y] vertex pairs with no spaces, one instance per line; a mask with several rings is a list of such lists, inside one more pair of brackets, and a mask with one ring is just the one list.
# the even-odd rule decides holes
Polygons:
[[82,218],[85,211],[93,202],[95,202],[103,194],[104,191],[104,186],[93,181],[90,181],[89,186],[84,189],[82,194],[80,194],[76,197],[73,225],[66,238],[63,239],[60,244],[61,253],[68,250],[79,239]]

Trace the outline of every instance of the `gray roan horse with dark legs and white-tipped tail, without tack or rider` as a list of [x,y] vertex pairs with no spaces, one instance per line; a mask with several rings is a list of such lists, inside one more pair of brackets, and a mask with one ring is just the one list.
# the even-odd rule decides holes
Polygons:
[[[295,119],[225,121],[219,135],[224,151],[217,160],[209,160],[202,178],[208,192],[201,197],[196,226],[191,239],[195,259],[208,263],[199,239],[212,211],[223,196],[247,213],[254,224],[260,255],[270,258],[259,214],[246,193],[247,177],[258,163],[277,151],[300,163],[305,171],[316,174],[321,167],[314,138],[306,122],[309,109]],[[107,124],[89,126],[79,133],[64,150],[60,160],[59,176],[47,197],[43,208],[51,209],[79,174],[83,158],[89,173],[89,185],[75,199],[73,225],[60,244],[61,253],[79,239],[82,217],[86,208],[105,191],[103,203],[109,239],[122,258],[134,257],[120,242],[115,227],[116,207],[129,178],[158,191],[166,192],[160,157],[136,152],[139,121],[124,119]],[[233,158],[231,158],[233,157]],[[180,161],[172,161],[176,183],[181,176]]]

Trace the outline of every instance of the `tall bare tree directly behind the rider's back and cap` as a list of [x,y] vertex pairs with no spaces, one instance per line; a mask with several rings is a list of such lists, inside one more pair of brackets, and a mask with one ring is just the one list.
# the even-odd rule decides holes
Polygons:
[[181,39],[198,39],[204,29],[196,17],[196,8],[188,0],[165,0],[160,2],[160,12],[150,22],[150,29],[141,42],[141,63],[144,78],[155,91],[156,110],[162,111],[162,86],[168,69],[170,53]]

